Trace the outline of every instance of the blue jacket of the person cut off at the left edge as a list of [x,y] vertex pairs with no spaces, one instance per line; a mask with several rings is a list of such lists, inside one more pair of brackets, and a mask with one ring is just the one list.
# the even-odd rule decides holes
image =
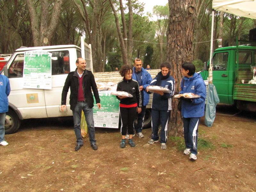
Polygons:
[[0,74],[0,113],[8,111],[8,96],[11,92],[8,77]]

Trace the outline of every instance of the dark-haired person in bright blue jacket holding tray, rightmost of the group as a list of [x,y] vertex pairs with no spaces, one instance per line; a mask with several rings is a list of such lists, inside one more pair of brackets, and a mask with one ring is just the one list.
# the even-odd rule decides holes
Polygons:
[[181,81],[181,91],[183,93],[194,93],[200,95],[199,98],[180,97],[181,114],[183,116],[183,130],[186,149],[185,155],[189,155],[189,159],[196,160],[197,157],[197,135],[200,118],[204,116],[204,104],[206,98],[206,85],[200,74],[195,73],[196,67],[193,63],[186,62],[181,66],[181,74],[184,76]]

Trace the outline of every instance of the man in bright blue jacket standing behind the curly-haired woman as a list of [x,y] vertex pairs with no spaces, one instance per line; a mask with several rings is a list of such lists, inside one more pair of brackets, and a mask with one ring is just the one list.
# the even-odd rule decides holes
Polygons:
[[[146,105],[148,105],[149,101],[149,94],[147,94],[146,88],[152,81],[151,75],[142,67],[142,64],[143,63],[141,59],[135,59],[132,73],[132,79],[136,80],[139,83],[140,95],[142,100],[141,112],[138,114],[138,122],[137,125],[134,127],[136,131],[136,136],[138,136],[139,138],[144,137],[144,135],[142,134],[142,127],[144,124]],[[135,134],[133,134],[132,136],[134,135]],[[125,139],[129,139],[129,135],[126,135]]]

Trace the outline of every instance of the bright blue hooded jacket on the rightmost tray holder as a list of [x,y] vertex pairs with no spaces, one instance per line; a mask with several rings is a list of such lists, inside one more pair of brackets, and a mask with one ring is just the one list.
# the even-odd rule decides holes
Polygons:
[[190,117],[202,117],[204,116],[204,104],[206,98],[206,85],[200,74],[195,73],[193,77],[184,77],[181,81],[180,93],[194,93],[200,95],[199,98],[192,99],[192,103],[182,100],[181,103],[181,114],[185,118]]

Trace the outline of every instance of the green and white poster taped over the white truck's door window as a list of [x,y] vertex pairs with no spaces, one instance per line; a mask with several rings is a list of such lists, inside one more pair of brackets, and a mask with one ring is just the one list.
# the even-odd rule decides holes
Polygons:
[[52,89],[52,53],[43,50],[26,51],[23,88]]

